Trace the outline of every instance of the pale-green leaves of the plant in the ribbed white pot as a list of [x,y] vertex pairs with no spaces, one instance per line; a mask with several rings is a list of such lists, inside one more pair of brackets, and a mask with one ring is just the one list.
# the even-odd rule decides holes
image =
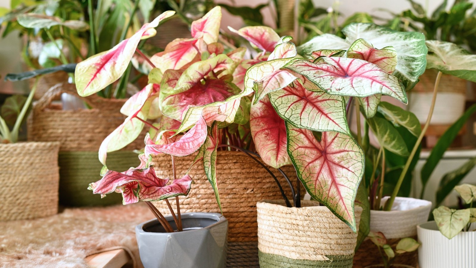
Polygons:
[[476,207],[473,202],[476,199],[476,186],[462,184],[455,186],[455,191],[461,196],[461,199],[468,208],[453,209],[446,206],[439,206],[433,210],[436,225],[448,239],[455,237],[461,231],[476,231],[471,229],[471,224],[476,222]]

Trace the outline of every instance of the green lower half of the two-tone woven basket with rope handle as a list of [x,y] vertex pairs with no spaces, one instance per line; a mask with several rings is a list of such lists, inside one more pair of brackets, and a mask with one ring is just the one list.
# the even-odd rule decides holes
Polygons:
[[[60,152],[60,204],[65,206],[109,206],[120,204],[122,196],[111,193],[104,198],[94,195],[88,185],[101,179],[102,164],[98,152]],[[137,154],[129,151],[108,154],[108,168],[119,172],[136,167],[140,161]],[[68,178],[68,179],[63,179]]]

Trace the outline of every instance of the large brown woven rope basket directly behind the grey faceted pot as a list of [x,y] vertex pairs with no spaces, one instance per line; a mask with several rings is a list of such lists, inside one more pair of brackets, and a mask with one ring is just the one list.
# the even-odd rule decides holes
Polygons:
[[[177,175],[181,176],[187,172],[194,156],[175,159]],[[169,155],[154,156],[152,162],[159,177],[172,176]],[[287,196],[291,196],[284,177],[278,170],[270,169],[278,177]],[[294,167],[284,166],[282,169],[296,184]],[[188,174],[195,184],[188,196],[180,196],[180,211],[219,213],[213,189],[203,170],[203,162],[197,163]],[[218,151],[217,181],[223,215],[228,219],[227,267],[258,267],[256,203],[265,198],[282,198],[278,186],[269,173],[249,156],[230,151]],[[170,198],[170,203],[175,209],[175,199]],[[163,214],[170,214],[165,202],[155,202],[154,205]]]

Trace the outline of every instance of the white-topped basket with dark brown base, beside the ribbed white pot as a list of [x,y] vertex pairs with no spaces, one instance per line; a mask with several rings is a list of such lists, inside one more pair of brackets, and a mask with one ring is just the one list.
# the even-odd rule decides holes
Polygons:
[[[388,196],[382,198],[382,206],[387,200]],[[395,248],[401,238],[417,238],[417,225],[428,220],[430,210],[430,201],[397,196],[391,211],[370,210],[370,230],[382,232],[387,237],[387,243]],[[395,262],[416,267],[417,251],[400,254],[395,258]],[[354,258],[354,267],[362,268],[381,263],[382,257],[377,246],[370,239],[362,242]]]

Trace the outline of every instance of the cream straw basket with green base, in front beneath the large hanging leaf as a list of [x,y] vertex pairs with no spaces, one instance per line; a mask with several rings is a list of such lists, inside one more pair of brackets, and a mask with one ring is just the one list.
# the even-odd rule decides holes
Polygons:
[[[261,268],[352,268],[357,233],[326,206],[301,201],[301,208],[280,200],[258,202],[258,249]],[[356,206],[357,227],[362,208]]]

